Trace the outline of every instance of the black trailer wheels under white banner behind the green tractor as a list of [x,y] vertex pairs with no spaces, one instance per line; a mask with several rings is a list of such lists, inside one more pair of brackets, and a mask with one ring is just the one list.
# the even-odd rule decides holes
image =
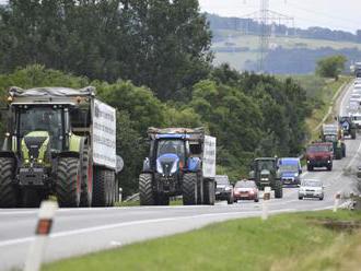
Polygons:
[[93,207],[108,207],[110,203],[110,181],[107,169],[94,167]]

